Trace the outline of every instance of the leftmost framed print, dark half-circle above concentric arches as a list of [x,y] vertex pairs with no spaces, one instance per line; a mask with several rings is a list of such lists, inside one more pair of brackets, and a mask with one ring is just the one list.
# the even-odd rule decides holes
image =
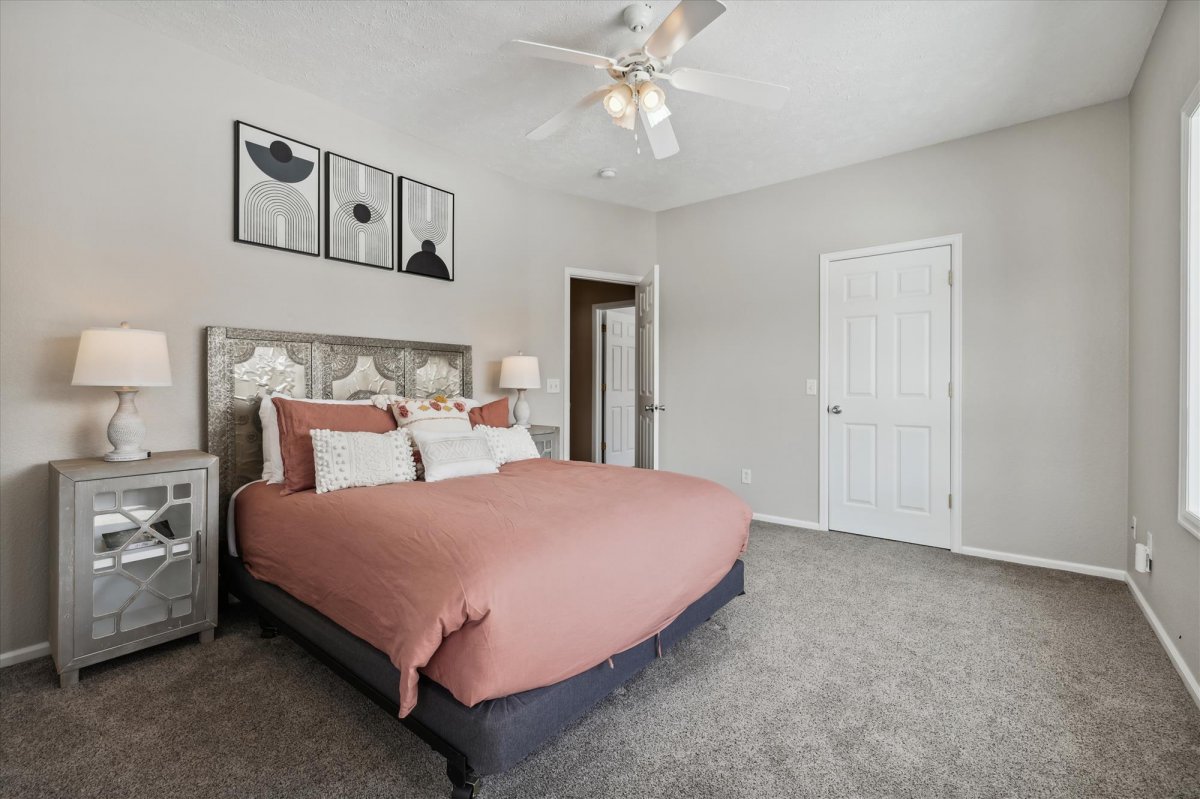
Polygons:
[[320,150],[234,122],[234,241],[320,254]]

